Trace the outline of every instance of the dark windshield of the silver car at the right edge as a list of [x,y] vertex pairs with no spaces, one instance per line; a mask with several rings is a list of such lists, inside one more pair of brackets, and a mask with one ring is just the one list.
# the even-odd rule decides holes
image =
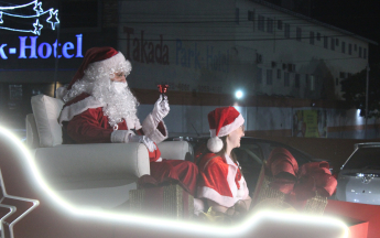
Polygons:
[[345,170],[380,169],[380,148],[360,148],[344,166]]

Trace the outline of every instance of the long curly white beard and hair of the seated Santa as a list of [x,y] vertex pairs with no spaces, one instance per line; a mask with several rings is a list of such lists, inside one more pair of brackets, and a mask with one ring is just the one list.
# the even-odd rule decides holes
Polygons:
[[117,125],[124,119],[128,129],[134,129],[135,125],[140,125],[137,117],[137,107],[139,106],[137,98],[129,89],[127,83],[107,83],[108,85],[95,84],[91,95],[97,100],[107,104],[102,111],[108,117],[109,125],[113,130],[117,130]]

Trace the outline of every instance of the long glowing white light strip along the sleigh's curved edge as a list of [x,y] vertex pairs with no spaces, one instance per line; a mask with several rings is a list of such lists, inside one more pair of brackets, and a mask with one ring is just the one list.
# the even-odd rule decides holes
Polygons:
[[202,224],[195,224],[191,221],[178,221],[164,218],[154,218],[149,216],[142,216],[139,214],[121,214],[115,212],[105,212],[102,209],[90,209],[85,207],[78,207],[68,201],[61,197],[43,178],[40,173],[37,165],[35,164],[29,150],[22,144],[20,139],[18,139],[9,130],[0,127],[0,133],[4,134],[12,141],[15,147],[22,151],[25,155],[25,162],[29,164],[31,172],[35,178],[35,182],[40,188],[44,192],[47,198],[55,203],[57,208],[61,208],[64,213],[69,213],[76,216],[86,217],[88,219],[102,219],[102,220],[113,220],[123,221],[131,225],[138,225],[141,227],[155,228],[162,231],[177,230],[187,232],[194,236],[219,236],[219,237],[237,237],[247,234],[252,228],[259,225],[259,221],[263,218],[269,218],[272,220],[280,220],[284,223],[303,223],[303,224],[318,224],[323,226],[337,227],[344,230],[341,238],[348,237],[348,227],[340,220],[330,217],[313,217],[300,214],[285,214],[285,213],[274,213],[274,212],[261,212],[251,215],[245,221],[234,227],[220,227],[220,226],[207,226]]

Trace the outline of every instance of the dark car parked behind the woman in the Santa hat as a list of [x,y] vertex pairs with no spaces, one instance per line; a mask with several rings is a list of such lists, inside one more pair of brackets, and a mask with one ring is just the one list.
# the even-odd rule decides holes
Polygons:
[[[178,137],[169,138],[167,140],[188,141],[193,145],[196,158],[199,153],[205,151],[208,137]],[[322,161],[319,159],[313,159],[312,155],[290,145],[286,145],[284,143],[251,137],[243,137],[240,141],[240,148],[234,149],[234,152],[238,158],[241,171],[243,173],[243,176],[246,177],[247,185],[250,192],[254,191],[263,161],[265,161],[271,151],[278,147],[285,148],[286,150],[289,150],[293,154],[294,159],[297,161],[298,165],[302,165],[307,162]]]

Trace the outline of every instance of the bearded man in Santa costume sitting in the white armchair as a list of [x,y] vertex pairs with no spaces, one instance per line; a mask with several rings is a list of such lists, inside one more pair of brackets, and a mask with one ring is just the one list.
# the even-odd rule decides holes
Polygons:
[[66,143],[143,143],[156,183],[177,181],[194,195],[196,165],[164,160],[156,147],[167,138],[163,122],[170,111],[167,98],[160,96],[141,125],[137,117],[139,102],[126,80],[131,69],[130,62],[112,47],[93,47],[86,52],[69,85],[57,89],[65,102],[59,116],[64,140]]

